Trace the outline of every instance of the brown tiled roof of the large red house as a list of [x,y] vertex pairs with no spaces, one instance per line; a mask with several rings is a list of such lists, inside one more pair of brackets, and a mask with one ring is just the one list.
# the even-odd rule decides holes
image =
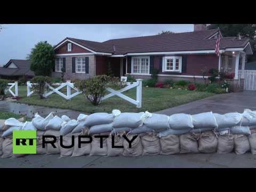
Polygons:
[[[110,39],[102,43],[67,37],[55,47],[68,39],[94,52],[113,54],[215,50],[216,39],[209,39],[209,37],[218,31],[219,29],[211,29],[186,33],[119,38]],[[224,37],[220,39],[220,50],[245,47],[248,42],[249,39]]]

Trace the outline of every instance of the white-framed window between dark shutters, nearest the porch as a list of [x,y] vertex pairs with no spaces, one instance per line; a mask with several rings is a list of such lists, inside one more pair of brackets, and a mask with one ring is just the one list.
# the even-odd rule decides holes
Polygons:
[[181,57],[164,57],[163,71],[181,72]]

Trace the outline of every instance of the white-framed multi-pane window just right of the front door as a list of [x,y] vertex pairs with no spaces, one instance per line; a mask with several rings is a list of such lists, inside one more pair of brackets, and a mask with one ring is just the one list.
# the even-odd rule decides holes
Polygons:
[[149,74],[149,57],[133,57],[132,73]]

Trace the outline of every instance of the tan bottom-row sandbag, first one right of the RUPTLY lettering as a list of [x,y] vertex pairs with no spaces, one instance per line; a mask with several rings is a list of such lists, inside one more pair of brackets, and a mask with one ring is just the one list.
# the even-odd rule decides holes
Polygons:
[[142,155],[158,155],[161,152],[161,145],[156,133],[147,133],[141,138]]

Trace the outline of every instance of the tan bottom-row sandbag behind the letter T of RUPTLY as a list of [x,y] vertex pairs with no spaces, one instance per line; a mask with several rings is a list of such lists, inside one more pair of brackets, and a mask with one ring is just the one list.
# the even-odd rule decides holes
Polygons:
[[90,152],[90,156],[92,155],[100,155],[105,156],[107,155],[107,138],[102,138],[102,148],[100,148],[100,138],[95,138],[94,135],[92,136],[92,148]]

